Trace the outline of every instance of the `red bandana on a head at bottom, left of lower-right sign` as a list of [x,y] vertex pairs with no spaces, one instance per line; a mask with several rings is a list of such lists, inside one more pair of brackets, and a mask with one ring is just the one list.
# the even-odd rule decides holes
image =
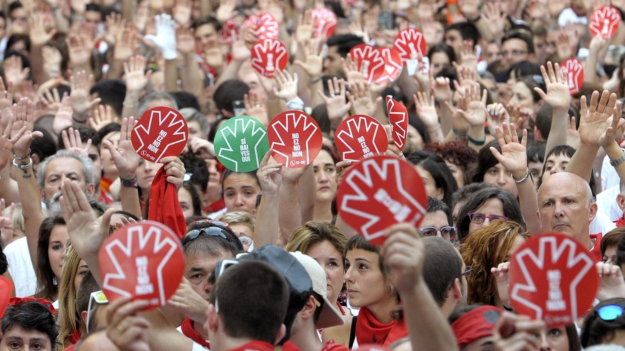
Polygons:
[[[464,349],[477,339],[492,335],[501,316],[497,307],[486,305],[463,314],[451,324],[459,349]],[[358,316],[360,318],[360,316]]]

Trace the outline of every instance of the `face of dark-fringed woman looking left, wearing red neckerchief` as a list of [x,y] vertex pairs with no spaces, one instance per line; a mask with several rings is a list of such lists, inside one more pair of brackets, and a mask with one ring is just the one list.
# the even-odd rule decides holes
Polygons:
[[347,251],[345,269],[347,295],[352,306],[365,307],[392,298],[376,252],[363,249]]

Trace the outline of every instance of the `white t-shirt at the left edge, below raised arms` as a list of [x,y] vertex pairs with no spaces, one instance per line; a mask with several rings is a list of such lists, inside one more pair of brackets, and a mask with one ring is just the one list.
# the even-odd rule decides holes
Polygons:
[[32,296],[37,292],[37,276],[32,267],[26,237],[19,238],[2,250],[9,263],[16,297]]

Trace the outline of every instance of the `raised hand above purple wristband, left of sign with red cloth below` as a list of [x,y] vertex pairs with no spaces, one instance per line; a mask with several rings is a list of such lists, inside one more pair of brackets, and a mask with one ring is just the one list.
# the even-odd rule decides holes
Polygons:
[[134,117],[124,118],[121,121],[121,130],[119,131],[119,144],[115,147],[109,140],[104,140],[103,144],[111,152],[113,163],[119,170],[119,178],[125,180],[133,180],[141,161],[141,156],[134,151],[131,135],[136,124]]

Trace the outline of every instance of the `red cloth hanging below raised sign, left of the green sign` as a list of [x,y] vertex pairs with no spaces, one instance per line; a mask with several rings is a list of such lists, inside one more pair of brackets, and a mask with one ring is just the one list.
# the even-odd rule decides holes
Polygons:
[[165,224],[169,229],[183,238],[187,233],[183,209],[178,202],[176,186],[167,181],[165,167],[159,168],[150,186],[150,208],[148,219]]

